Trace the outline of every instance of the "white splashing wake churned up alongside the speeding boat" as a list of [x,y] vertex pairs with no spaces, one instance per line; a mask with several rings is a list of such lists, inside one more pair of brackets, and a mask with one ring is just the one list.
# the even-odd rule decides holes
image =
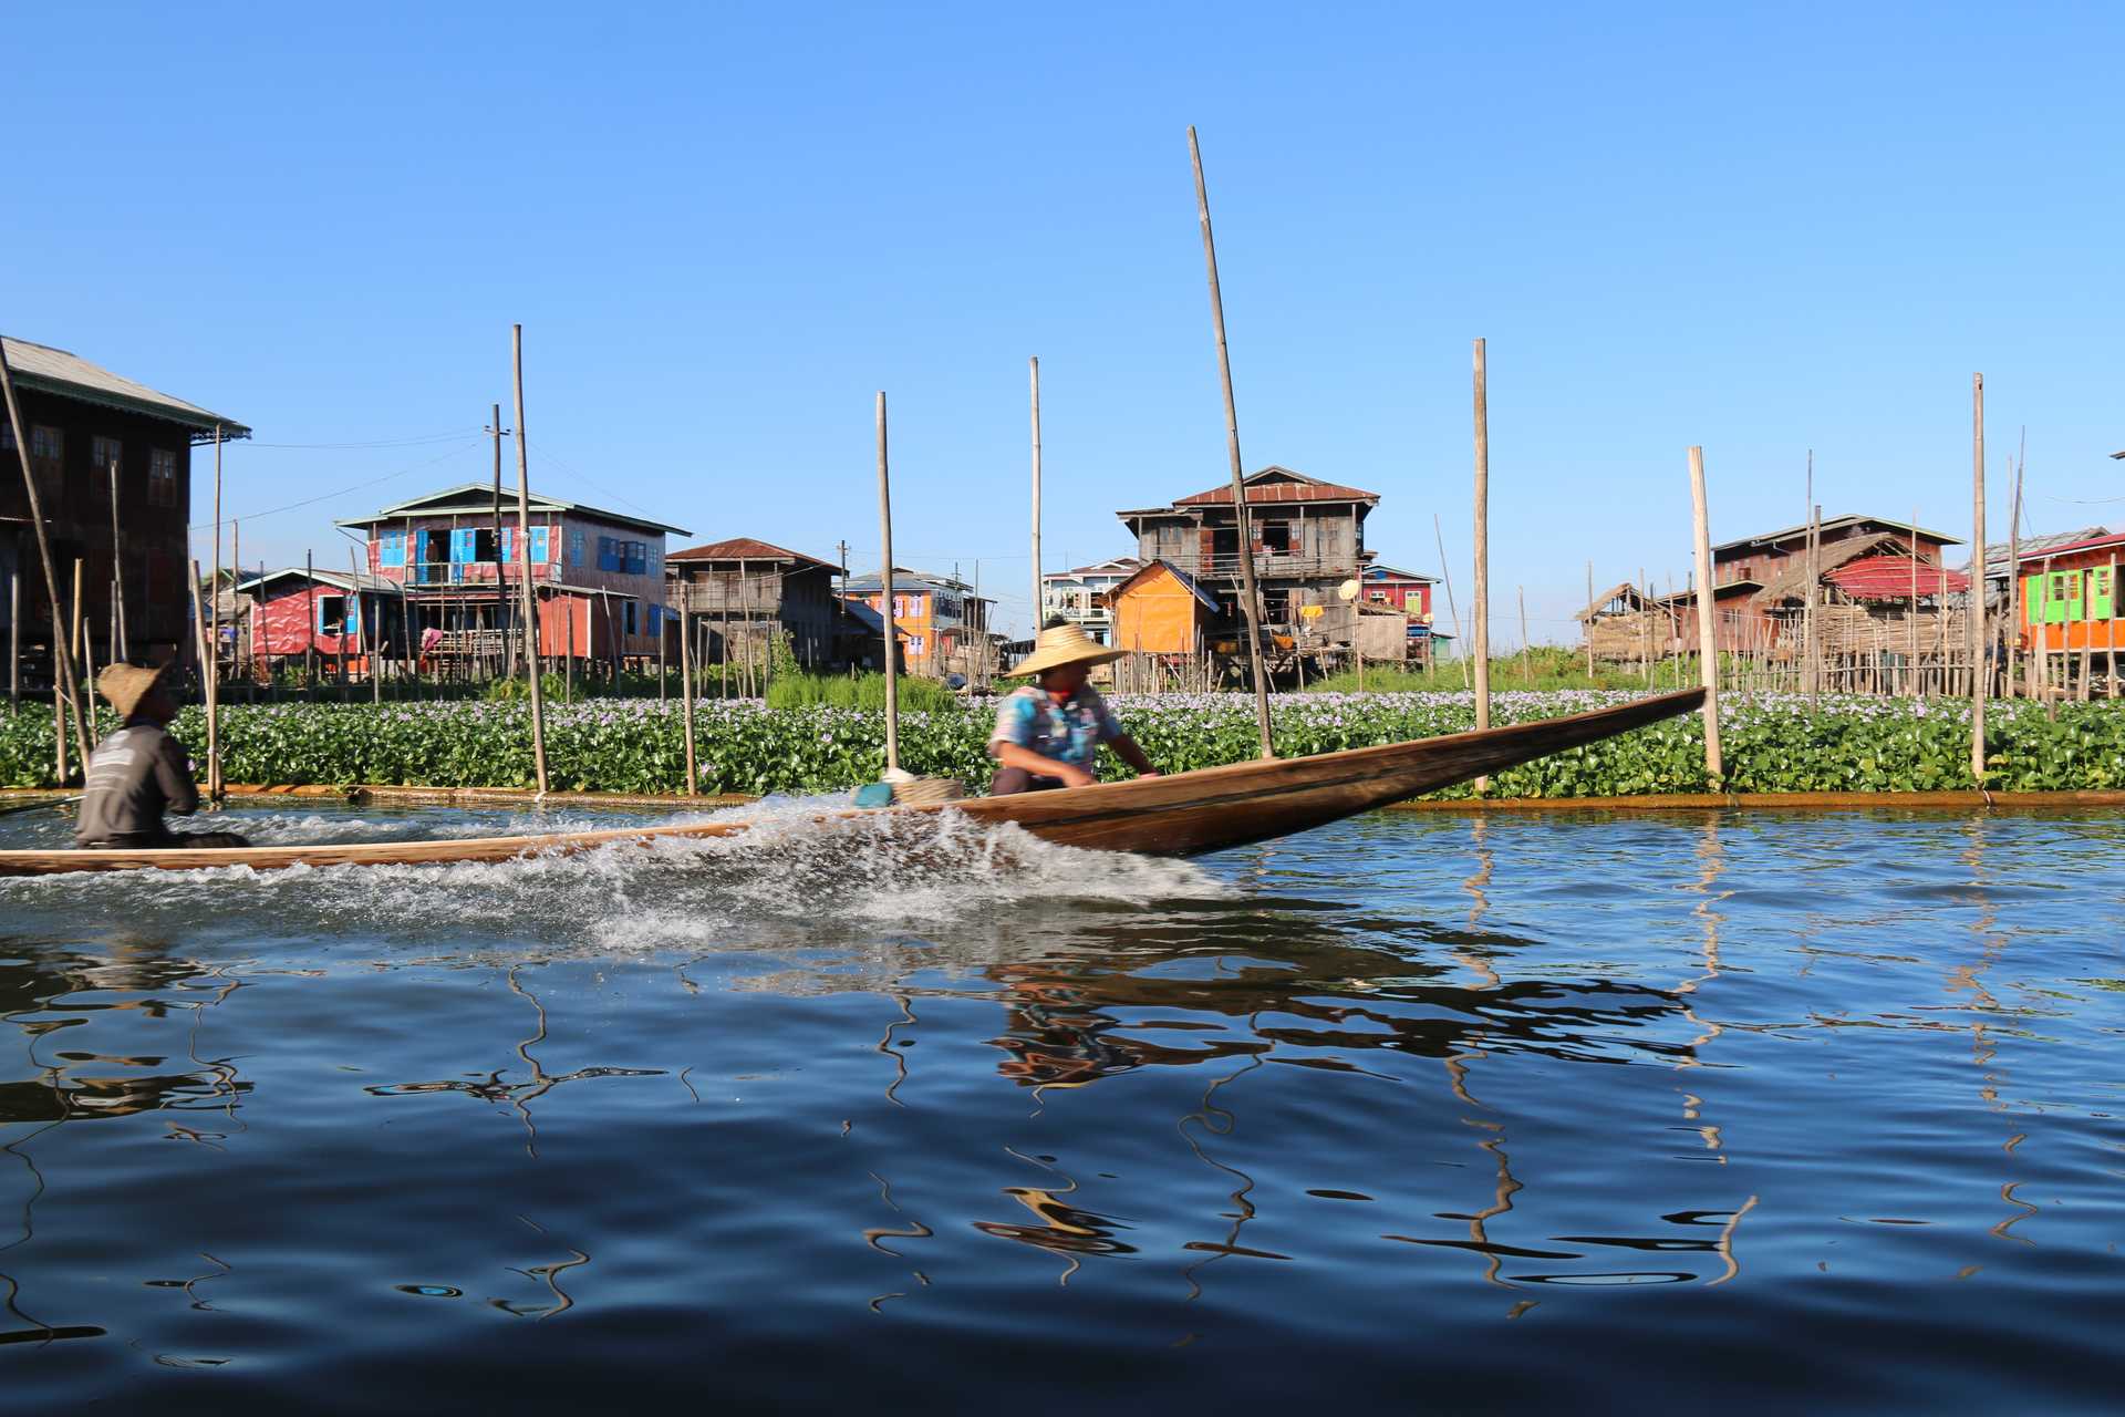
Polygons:
[[[366,939],[468,950],[538,945],[633,952],[818,943],[852,931],[965,922],[1039,901],[1135,909],[1222,899],[1230,886],[1177,860],[1052,846],[1014,824],[956,814],[822,820],[842,799],[754,803],[693,816],[572,812],[227,812],[200,826],[259,846],[533,835],[633,822],[746,820],[729,837],[657,837],[504,863],[123,871],[0,880],[6,935],[108,931],[174,941]],[[42,846],[8,833],[6,846]]]

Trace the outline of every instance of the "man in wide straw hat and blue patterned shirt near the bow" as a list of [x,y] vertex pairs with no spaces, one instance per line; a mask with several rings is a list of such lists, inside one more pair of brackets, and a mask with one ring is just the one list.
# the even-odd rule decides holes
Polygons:
[[1033,652],[1012,669],[1014,678],[1033,676],[1033,682],[1014,688],[997,710],[997,731],[988,737],[988,756],[999,765],[988,784],[990,797],[1092,786],[1101,744],[1137,773],[1158,775],[1137,739],[1122,733],[1107,701],[1086,682],[1092,665],[1120,656],[1122,650],[1101,646],[1067,620],[1041,631]]

